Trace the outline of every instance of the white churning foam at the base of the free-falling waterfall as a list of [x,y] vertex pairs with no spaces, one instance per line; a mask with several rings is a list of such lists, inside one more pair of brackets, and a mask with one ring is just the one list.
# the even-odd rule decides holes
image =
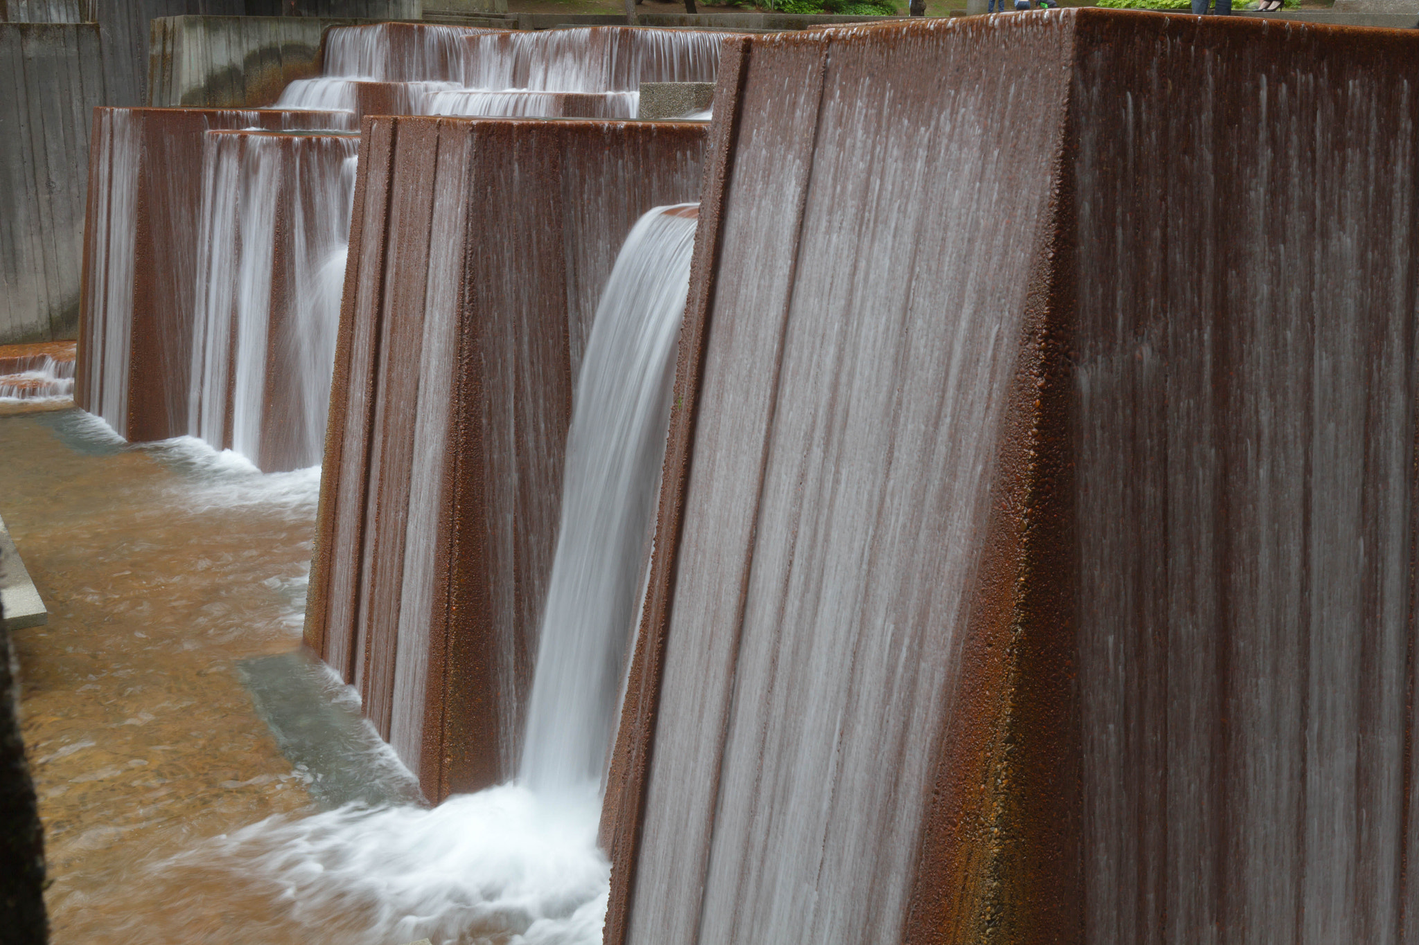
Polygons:
[[[350,805],[270,817],[150,867],[155,881],[228,874],[272,902],[271,922],[312,941],[434,945],[600,942],[610,866],[599,803],[542,803],[505,785],[440,806]],[[173,905],[179,912],[182,905]]]

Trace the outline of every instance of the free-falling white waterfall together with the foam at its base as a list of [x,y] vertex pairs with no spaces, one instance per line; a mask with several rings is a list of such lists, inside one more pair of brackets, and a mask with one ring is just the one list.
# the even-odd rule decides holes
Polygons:
[[[641,217],[596,312],[519,782],[433,810],[272,817],[159,864],[155,887],[231,877],[267,900],[270,928],[355,945],[600,942],[600,783],[644,589],[695,225],[692,204]],[[173,898],[165,919],[187,941],[227,941],[228,928],[200,927],[200,904]],[[245,931],[260,936],[260,922]]]

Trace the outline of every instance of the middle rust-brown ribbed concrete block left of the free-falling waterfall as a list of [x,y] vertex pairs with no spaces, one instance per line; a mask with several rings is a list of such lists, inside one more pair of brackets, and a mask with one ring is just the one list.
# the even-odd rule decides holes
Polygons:
[[573,381],[622,237],[702,125],[370,118],[305,640],[441,799],[509,778]]

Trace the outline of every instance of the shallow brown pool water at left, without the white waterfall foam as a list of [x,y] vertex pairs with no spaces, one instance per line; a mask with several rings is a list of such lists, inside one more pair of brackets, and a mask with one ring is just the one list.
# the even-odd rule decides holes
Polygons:
[[129,449],[79,411],[4,408],[0,509],[50,609],[14,642],[53,941],[238,941],[261,897],[145,864],[314,810],[236,663],[299,640],[315,470],[261,476],[194,441]]

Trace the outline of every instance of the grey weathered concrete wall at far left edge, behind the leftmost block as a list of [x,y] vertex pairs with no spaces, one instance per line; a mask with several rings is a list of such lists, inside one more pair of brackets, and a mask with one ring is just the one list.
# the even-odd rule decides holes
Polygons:
[[96,24],[0,23],[0,344],[75,337]]

